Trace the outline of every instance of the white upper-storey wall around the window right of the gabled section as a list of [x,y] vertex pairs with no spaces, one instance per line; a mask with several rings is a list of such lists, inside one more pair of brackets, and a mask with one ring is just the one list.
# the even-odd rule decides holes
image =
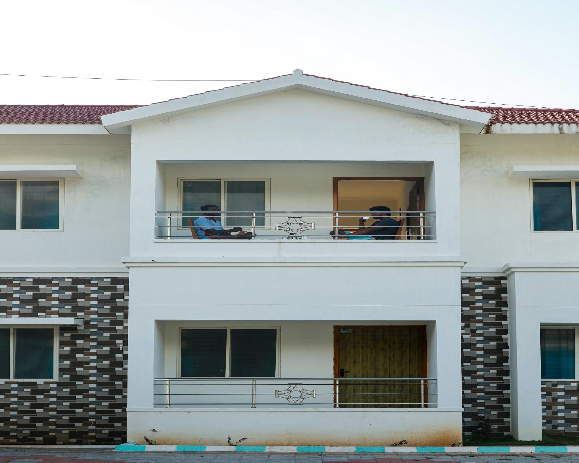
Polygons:
[[531,232],[528,178],[514,165],[578,165],[577,135],[461,134],[462,255],[469,269],[508,262],[579,262],[579,232]]

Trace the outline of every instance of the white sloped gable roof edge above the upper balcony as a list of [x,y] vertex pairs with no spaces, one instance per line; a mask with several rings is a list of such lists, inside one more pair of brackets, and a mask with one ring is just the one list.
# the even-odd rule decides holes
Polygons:
[[458,105],[393,91],[373,89],[368,86],[341,82],[312,74],[303,74],[301,69],[296,69],[293,74],[139,106],[102,116],[101,120],[109,133],[129,133],[133,124],[293,89],[307,90],[397,111],[420,114],[434,119],[448,120],[474,126],[479,130],[482,130],[490,119],[488,113],[476,109],[463,108]]

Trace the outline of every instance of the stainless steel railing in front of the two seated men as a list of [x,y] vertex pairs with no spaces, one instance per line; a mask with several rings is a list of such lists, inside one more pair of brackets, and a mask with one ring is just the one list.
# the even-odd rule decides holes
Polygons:
[[[434,240],[436,238],[435,211],[392,211],[391,218],[401,225],[383,229],[384,235],[396,240]],[[192,222],[203,215],[199,211],[157,211],[155,212],[155,239],[193,239],[188,218]],[[250,232],[252,239],[307,239],[327,238],[349,240],[347,232],[358,230],[358,219],[369,217],[367,227],[376,219],[368,211],[221,211],[219,221],[225,229],[241,227]],[[223,237],[221,237],[223,238]],[[237,239],[236,232],[231,239]],[[245,237],[247,238],[247,237]]]

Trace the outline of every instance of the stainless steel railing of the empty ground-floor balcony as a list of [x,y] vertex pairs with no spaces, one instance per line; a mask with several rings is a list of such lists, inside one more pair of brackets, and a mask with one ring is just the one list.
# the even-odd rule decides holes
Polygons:
[[165,408],[437,406],[436,378],[163,378],[154,389]]

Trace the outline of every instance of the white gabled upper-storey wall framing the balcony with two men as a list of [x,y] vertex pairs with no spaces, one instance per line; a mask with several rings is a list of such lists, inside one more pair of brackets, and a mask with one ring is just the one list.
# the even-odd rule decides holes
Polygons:
[[[328,206],[331,206],[332,176],[369,175],[369,172],[372,176],[390,176],[389,172],[393,176],[403,172],[424,175],[430,182],[427,207],[437,205],[437,244],[428,247],[428,251],[423,248],[402,251],[392,249],[394,246],[389,249],[390,255],[459,253],[458,124],[291,90],[136,124],[132,143],[131,256],[197,254],[198,250],[191,247],[152,242],[155,205],[163,201],[155,196],[151,185],[157,176],[166,179],[165,204],[169,207],[176,205],[175,175],[181,177],[181,171],[208,174],[219,170],[241,171],[253,178],[257,176],[254,171],[265,175],[269,170],[271,174],[266,177],[272,178],[272,200],[274,189],[280,188],[284,197],[280,194],[276,203],[288,209],[295,209],[290,205],[296,202],[304,205],[315,202],[316,209],[331,209]],[[184,166],[186,162],[214,164]],[[313,163],[313,167],[304,164],[239,167],[246,162]],[[166,172],[158,167],[159,163],[167,163]],[[341,163],[349,165],[340,166]],[[360,164],[353,167],[354,163]],[[431,164],[436,167],[425,172]],[[434,188],[433,172],[440,176],[436,179],[439,188]],[[159,179],[157,183],[162,181]],[[217,246],[212,249],[224,253]],[[266,253],[272,255],[270,250]]]

